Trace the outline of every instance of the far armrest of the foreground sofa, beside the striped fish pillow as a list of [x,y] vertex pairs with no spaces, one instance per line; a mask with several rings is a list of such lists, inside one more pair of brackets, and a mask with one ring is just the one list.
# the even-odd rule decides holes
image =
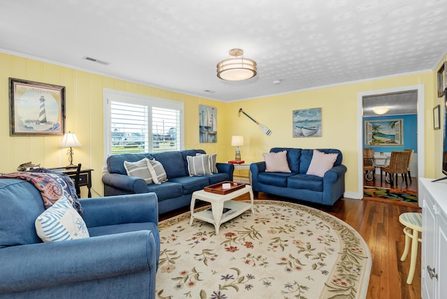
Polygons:
[[153,192],[81,198],[80,204],[87,228],[126,223],[159,223],[159,203]]

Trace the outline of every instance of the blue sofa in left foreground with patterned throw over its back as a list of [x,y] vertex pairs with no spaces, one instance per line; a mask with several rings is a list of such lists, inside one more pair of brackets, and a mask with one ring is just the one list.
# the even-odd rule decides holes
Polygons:
[[42,242],[45,207],[25,180],[0,179],[0,298],[155,298],[155,194],[81,199],[90,238]]

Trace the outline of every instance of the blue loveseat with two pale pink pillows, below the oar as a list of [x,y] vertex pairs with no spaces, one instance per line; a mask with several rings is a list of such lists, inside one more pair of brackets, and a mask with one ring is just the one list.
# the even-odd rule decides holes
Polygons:
[[338,149],[318,149],[324,153],[337,153],[334,166],[324,177],[307,175],[314,149],[274,147],[270,152],[287,151],[287,162],[291,173],[265,172],[265,161],[251,163],[251,184],[253,191],[305,200],[321,205],[334,205],[344,194],[344,174],[342,152]]

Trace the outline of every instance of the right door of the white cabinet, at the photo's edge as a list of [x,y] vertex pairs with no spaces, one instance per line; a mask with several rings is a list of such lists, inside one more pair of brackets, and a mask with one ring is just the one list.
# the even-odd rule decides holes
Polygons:
[[[436,265],[437,278],[437,297],[436,298],[447,298],[447,285],[446,285],[446,275],[447,275],[447,221],[444,213],[438,215],[438,245],[437,245],[437,258],[438,263]],[[441,278],[442,277],[442,278]],[[441,283],[441,279],[444,279]]]

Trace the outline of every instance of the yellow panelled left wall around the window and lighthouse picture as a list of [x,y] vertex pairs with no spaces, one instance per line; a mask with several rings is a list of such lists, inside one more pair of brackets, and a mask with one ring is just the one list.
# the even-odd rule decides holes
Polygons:
[[[0,173],[17,171],[21,163],[32,161],[46,168],[68,164],[66,149],[60,149],[62,136],[10,136],[9,135],[9,92],[8,78],[44,82],[66,87],[66,131],[76,133],[82,147],[75,148],[73,163],[82,163],[83,168],[93,168],[93,196],[103,194],[103,89],[142,94],[160,99],[184,103],[186,149],[200,148],[206,152],[217,152],[218,161],[225,156],[220,151],[221,141],[228,135],[223,117],[225,103],[196,96],[188,96],[163,89],[147,87],[123,80],[95,75],[71,68],[47,64],[10,54],[0,53]],[[218,143],[199,143],[198,105],[217,108]],[[82,196],[86,190],[82,188]]]

